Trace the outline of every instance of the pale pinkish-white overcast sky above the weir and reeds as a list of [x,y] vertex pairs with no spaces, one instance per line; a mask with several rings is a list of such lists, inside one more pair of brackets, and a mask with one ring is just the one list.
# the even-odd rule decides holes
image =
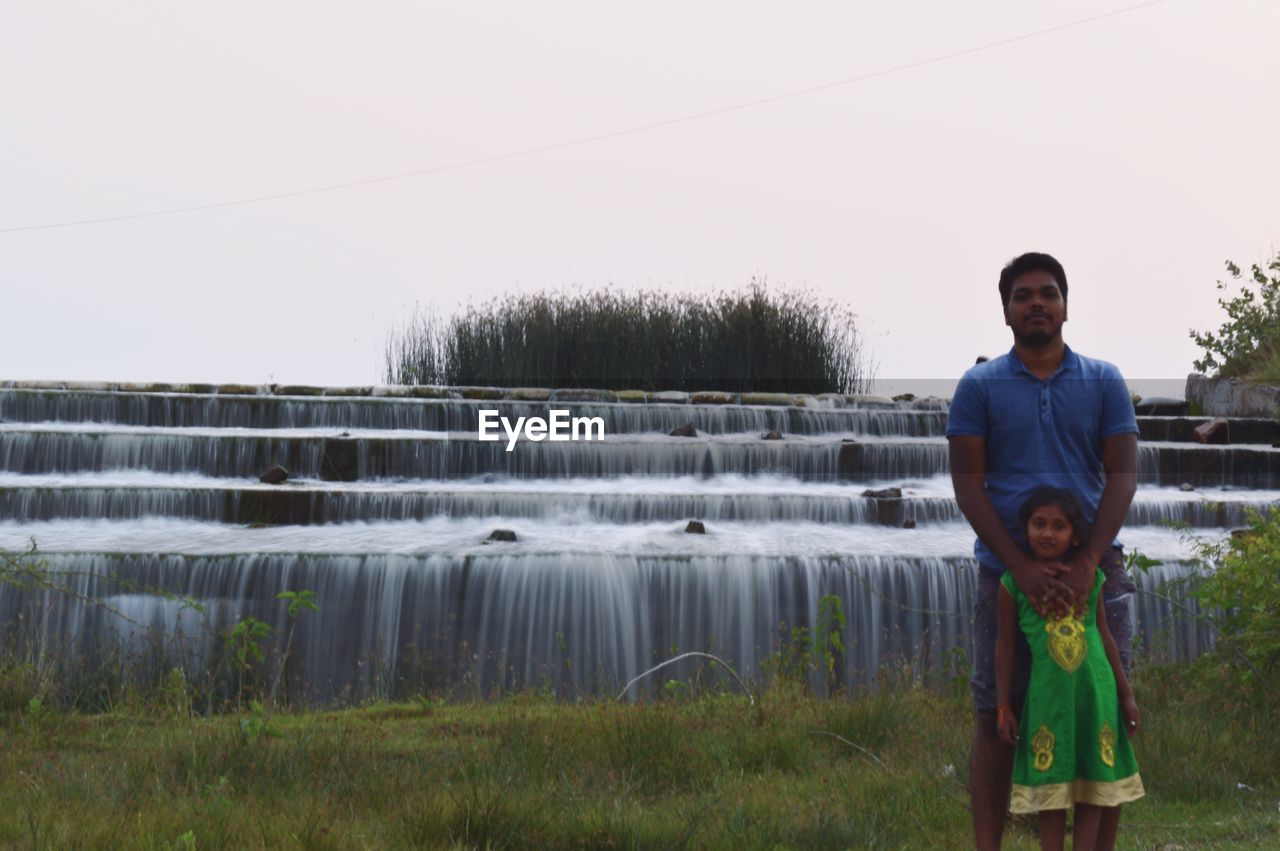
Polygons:
[[[8,3],[0,380],[381,380],[415,303],[753,276],[849,303],[886,379],[1068,342],[1181,379],[1280,248],[1280,4]],[[527,156],[289,193],[803,96]]]

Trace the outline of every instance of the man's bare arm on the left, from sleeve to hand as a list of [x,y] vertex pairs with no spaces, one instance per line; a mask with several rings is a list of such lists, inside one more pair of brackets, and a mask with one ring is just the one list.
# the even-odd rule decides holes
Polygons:
[[[1001,562],[1009,566],[1018,587],[1039,614],[1050,610],[1065,613],[1073,599],[1070,587],[1057,578],[1061,564],[1034,562],[1005,531],[996,507],[987,497],[987,439],[954,435],[947,439],[951,458],[951,485],[956,503],[978,537]],[[1092,576],[1092,573],[1089,575]]]

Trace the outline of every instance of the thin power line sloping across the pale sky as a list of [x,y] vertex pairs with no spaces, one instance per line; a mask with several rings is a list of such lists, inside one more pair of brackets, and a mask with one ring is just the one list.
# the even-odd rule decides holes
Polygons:
[[755,109],[758,106],[765,106],[768,104],[776,104],[778,101],[790,100],[792,97],[804,97],[806,95],[814,95],[817,92],[824,92],[832,88],[838,88],[841,86],[852,86],[855,83],[867,82],[869,79],[876,79],[879,77],[888,77],[890,74],[900,74],[906,70],[913,70],[915,68],[924,68],[927,65],[936,65],[938,63],[950,61],[952,59],[959,59],[961,56],[969,56],[977,52],[983,52],[986,50],[993,50],[996,47],[1004,47],[1006,45],[1012,45],[1020,41],[1028,41],[1030,38],[1038,38],[1041,36],[1047,36],[1055,32],[1062,32],[1064,29],[1073,29],[1075,27],[1083,27],[1085,24],[1096,23],[1098,20],[1105,20],[1107,18],[1115,18],[1117,15],[1129,14],[1130,12],[1138,12],[1140,9],[1147,9],[1151,6],[1158,6],[1169,0],[1147,0],[1147,3],[1139,3],[1132,6],[1124,6],[1123,9],[1115,9],[1112,12],[1105,12],[1102,14],[1091,15],[1088,18],[1078,18],[1075,20],[1069,20],[1066,23],[1055,24],[1052,27],[1046,27],[1043,29],[1034,29],[1032,32],[1025,32],[1019,36],[1011,36],[1009,38],[1000,38],[997,41],[989,41],[987,44],[977,45],[974,47],[965,47],[963,50],[956,50],[948,54],[941,54],[932,56],[929,59],[920,59],[911,63],[904,63],[901,65],[892,65],[890,68],[882,68],[879,70],[868,72],[865,74],[858,74],[856,77],[846,77],[844,79],[832,81],[829,83],[820,83],[818,86],[809,86],[808,88],[797,88],[790,92],[782,92],[781,95],[771,95],[768,97],[759,97],[756,100],[741,101],[739,104],[732,104],[730,106],[721,106],[718,109],[709,109],[700,113],[689,113],[686,115],[677,115],[675,118],[668,118],[658,122],[650,122],[648,124],[637,124],[635,127],[628,127],[621,131],[612,131],[609,133],[596,133],[594,136],[582,136],[573,139],[564,139],[561,142],[553,142],[550,145],[539,145],[535,147],[520,148],[517,151],[507,151],[506,154],[495,154],[493,156],[483,156],[474,160],[461,160],[458,163],[449,163],[445,165],[435,165],[425,169],[415,169],[412,171],[401,171],[399,174],[387,174],[376,178],[364,178],[360,180],[347,180],[344,183],[329,183],[325,186],[311,187],[306,189],[293,189],[291,192],[275,192],[271,195],[257,195],[250,196],[247,198],[233,198],[229,201],[214,201],[211,203],[196,203],[186,207],[168,207],[164,210],[147,210],[143,212],[129,212],[124,215],[115,216],[100,216],[96,219],[72,219],[68,221],[49,221],[42,224],[32,225],[19,225],[15,228],[0,228],[0,234],[4,233],[19,233],[24,230],[52,230],[56,228],[76,228],[79,225],[91,224],[106,224],[109,221],[131,221],[133,219],[152,219],[156,216],[169,216],[178,215],[183,212],[200,212],[201,210],[218,210],[221,207],[234,207],[246,203],[264,203],[268,201],[284,201],[287,198],[298,198],[307,195],[320,195],[321,192],[337,192],[339,189],[353,189],[356,187],[374,186],[376,183],[390,183],[392,180],[404,180],[407,178],[426,177],[429,174],[439,174],[440,171],[454,171],[458,169],[468,169],[477,165],[488,165],[490,163],[502,163],[503,160],[513,160],[524,156],[534,156],[536,154],[548,154],[550,151],[562,151],[568,147],[577,147],[580,145],[590,145],[593,142],[603,142],[607,139],[614,139],[623,136],[634,136],[636,133],[646,133],[649,131],[657,131],[666,127],[675,127],[677,124],[687,124],[690,122],[699,122],[707,118],[713,118],[716,115],[724,115],[727,113],[737,113],[741,110]]

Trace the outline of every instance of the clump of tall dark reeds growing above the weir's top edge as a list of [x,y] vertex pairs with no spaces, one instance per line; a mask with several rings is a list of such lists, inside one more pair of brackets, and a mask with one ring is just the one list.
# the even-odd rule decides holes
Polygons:
[[390,384],[858,393],[872,366],[854,312],[753,280],[717,296],[507,294],[387,343]]

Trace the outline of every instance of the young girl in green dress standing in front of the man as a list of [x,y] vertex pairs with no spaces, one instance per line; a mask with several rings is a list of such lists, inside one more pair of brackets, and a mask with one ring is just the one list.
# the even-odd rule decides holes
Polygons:
[[[1033,558],[1065,561],[1085,539],[1084,512],[1068,490],[1041,488],[1023,504],[1019,526]],[[1000,737],[1016,745],[1012,813],[1039,813],[1042,848],[1062,848],[1066,810],[1075,806],[1073,847],[1115,847],[1120,805],[1143,796],[1129,736],[1138,704],[1102,608],[1102,571],[1071,614],[1036,614],[1011,573],[996,604],[996,697]],[[1032,651],[1021,723],[1010,705],[1015,631]]]

